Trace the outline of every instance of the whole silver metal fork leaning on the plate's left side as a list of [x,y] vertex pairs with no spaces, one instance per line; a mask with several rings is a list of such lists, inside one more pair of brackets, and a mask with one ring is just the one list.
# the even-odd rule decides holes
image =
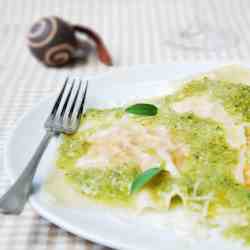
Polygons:
[[84,110],[87,87],[88,82],[83,84],[82,81],[70,80],[69,78],[65,80],[45,122],[46,134],[22,174],[0,199],[0,212],[20,214],[23,211],[32,191],[32,180],[38,163],[50,139],[61,133],[72,134],[78,129]]

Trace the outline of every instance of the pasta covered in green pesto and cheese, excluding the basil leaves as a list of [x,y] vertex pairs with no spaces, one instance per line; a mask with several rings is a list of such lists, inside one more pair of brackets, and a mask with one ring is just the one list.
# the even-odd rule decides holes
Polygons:
[[[89,109],[79,131],[63,136],[57,168],[83,196],[112,206],[166,210],[178,198],[211,221],[235,211],[250,242],[248,81],[249,71],[237,67],[185,81],[171,95],[144,101],[157,106],[154,116]],[[135,178],[156,166],[165,171],[132,195]],[[238,237],[236,226],[227,235]]]

